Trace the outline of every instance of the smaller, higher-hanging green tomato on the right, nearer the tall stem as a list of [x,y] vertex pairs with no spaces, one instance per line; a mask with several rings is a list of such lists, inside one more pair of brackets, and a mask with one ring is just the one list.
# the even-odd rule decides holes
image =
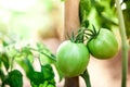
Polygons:
[[88,41],[87,47],[98,59],[113,58],[118,51],[118,42],[114,34],[105,28],[101,28],[99,35]]

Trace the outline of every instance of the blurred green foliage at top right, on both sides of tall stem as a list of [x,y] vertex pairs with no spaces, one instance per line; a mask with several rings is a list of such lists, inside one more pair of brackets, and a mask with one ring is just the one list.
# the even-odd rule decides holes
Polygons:
[[[125,16],[126,33],[128,38],[130,38],[130,0],[122,0],[120,5]],[[112,29],[113,26],[118,26],[114,0],[80,0],[79,16],[80,22],[88,20],[96,28]]]

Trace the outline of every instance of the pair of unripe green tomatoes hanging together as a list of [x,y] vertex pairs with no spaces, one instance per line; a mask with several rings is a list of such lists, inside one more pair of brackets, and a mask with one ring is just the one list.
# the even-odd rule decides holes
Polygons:
[[62,42],[56,51],[57,66],[66,77],[78,76],[84,72],[90,54],[98,59],[109,59],[117,51],[118,42],[110,30],[102,28],[95,33],[94,29],[87,45],[70,40]]

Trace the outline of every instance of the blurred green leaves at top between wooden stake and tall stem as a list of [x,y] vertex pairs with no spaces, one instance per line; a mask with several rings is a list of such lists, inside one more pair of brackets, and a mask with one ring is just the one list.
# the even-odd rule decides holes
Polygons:
[[[86,11],[86,9],[88,10]],[[112,26],[117,26],[118,24],[115,13],[115,1],[112,0],[80,0],[79,17],[81,25],[83,20],[88,20],[98,28],[112,28]]]

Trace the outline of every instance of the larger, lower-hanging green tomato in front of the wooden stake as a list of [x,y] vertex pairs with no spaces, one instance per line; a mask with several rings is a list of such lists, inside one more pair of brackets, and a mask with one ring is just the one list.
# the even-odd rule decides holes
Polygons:
[[66,40],[56,51],[57,66],[66,77],[78,76],[87,69],[90,54],[86,45]]

